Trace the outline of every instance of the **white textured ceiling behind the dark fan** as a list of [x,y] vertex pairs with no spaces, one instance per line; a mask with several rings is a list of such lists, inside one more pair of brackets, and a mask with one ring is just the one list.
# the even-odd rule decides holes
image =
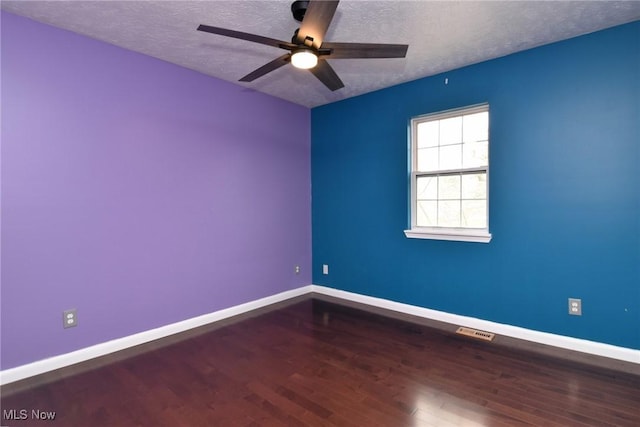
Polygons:
[[[2,9],[223,80],[237,82],[284,51],[196,31],[199,24],[290,40],[290,0],[2,1]],[[314,107],[640,19],[639,1],[343,0],[328,42],[408,44],[403,59],[335,59],[345,83],[329,91],[282,67],[238,83]]]

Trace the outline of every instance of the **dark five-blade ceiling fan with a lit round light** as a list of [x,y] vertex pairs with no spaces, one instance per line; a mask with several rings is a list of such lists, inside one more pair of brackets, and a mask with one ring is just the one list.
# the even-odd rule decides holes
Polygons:
[[324,41],[324,35],[331,24],[339,0],[298,0],[291,5],[294,19],[301,22],[291,42],[276,40],[241,31],[200,25],[198,31],[219,34],[226,37],[247,40],[278,47],[289,52],[252,71],[241,82],[251,82],[274,71],[289,62],[294,67],[308,69],[332,91],[344,87],[344,83],[333,70],[327,59],[349,58],[404,58],[408,45],[378,43],[331,43]]

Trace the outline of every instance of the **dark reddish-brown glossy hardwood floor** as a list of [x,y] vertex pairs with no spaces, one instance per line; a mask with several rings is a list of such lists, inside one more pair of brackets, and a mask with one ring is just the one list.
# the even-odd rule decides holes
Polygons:
[[4,426],[640,426],[640,377],[309,299],[4,393],[2,411]]

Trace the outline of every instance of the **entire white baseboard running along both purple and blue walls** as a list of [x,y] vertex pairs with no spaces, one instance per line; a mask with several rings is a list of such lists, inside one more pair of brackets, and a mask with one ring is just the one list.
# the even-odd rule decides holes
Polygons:
[[493,332],[498,335],[504,335],[525,341],[531,341],[568,350],[579,351],[582,353],[588,353],[597,356],[609,357],[611,359],[622,360],[625,362],[640,364],[640,350],[617,347],[614,345],[566,337],[562,335],[555,335],[547,332],[534,331],[531,329],[505,325],[488,320],[476,319],[473,317],[461,316],[458,314],[451,314],[438,310],[431,310],[424,307],[399,303],[382,298],[341,291],[325,286],[307,285],[297,289],[281,292],[276,295],[271,295],[269,297],[261,298],[255,301],[250,301],[244,304],[225,308],[223,310],[218,310],[213,313],[183,320],[181,322],[161,326],[156,329],[151,329],[105,343],[96,344],[91,347],[73,351],[71,353],[61,354],[59,356],[39,360],[37,362],[28,363],[26,365],[17,366],[11,369],[5,369],[4,371],[0,371],[0,385],[9,384],[25,378],[33,377],[35,375],[40,375],[56,369],[64,368],[66,366],[74,365],[76,363],[94,359],[96,357],[105,356],[110,353],[115,353],[116,351],[124,350],[160,338],[168,337],[180,332],[185,332],[199,326],[208,325],[213,322],[247,313],[252,310],[286,301],[291,298],[307,295],[312,292],[343,299],[346,301],[353,301],[360,304],[396,311],[403,314],[418,316],[425,319],[437,320],[452,325],[481,329],[487,332]]

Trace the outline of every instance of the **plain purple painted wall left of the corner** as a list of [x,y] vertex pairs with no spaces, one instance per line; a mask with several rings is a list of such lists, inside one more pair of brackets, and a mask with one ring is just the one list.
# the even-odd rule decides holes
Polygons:
[[1,368],[310,284],[309,120],[3,12]]

